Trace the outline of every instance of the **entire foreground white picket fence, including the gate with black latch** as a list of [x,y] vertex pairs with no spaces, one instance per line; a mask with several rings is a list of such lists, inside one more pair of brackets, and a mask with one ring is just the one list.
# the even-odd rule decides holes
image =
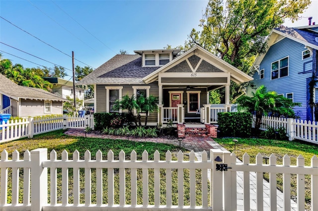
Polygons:
[[[73,153],[73,160],[68,159],[68,153],[63,151],[61,160],[57,160],[56,152],[53,150],[48,159],[47,149],[36,149],[24,153],[24,160],[19,160],[19,153],[14,151],[12,159],[8,159],[8,153],[4,150],[1,153],[0,170],[0,210],[1,211],[97,211],[97,210],[148,210],[148,211],[168,211],[168,210],[213,210],[213,211],[236,211],[237,205],[237,172],[243,172],[243,210],[250,210],[250,172],[256,172],[257,182],[257,211],[263,210],[263,172],[269,172],[270,184],[270,210],[277,210],[276,194],[276,174],[283,174],[284,183],[284,210],[291,210],[290,196],[290,176],[297,174],[297,210],[305,210],[305,174],[311,175],[311,210],[318,210],[318,158],[312,158],[312,165],[305,166],[304,158],[297,158],[297,166],[290,165],[290,158],[284,157],[283,165],[276,164],[275,156],[270,156],[269,164],[263,164],[263,157],[259,154],[256,163],[249,163],[249,156],[243,156],[243,162],[237,163],[236,155],[230,152],[211,149],[211,158],[208,160],[207,153],[202,153],[202,160],[196,161],[193,151],[189,154],[189,161],[183,160],[181,151],[177,154],[177,160],[172,160],[169,151],[165,154],[165,160],[160,160],[159,152],[154,154],[154,160],[148,159],[147,151],[144,151],[142,160],[137,160],[135,151],[131,153],[130,160],[125,160],[123,151],[119,154],[119,159],[114,160],[114,154],[109,151],[107,160],[102,158],[101,151],[97,151],[96,159],[91,160],[89,151],[84,154],[84,159],[79,159],[79,152]],[[226,166],[225,164],[228,164]],[[231,168],[230,168],[231,167]],[[8,169],[11,169],[12,182],[11,193],[8,193]],[[19,174],[19,168],[23,173]],[[50,169],[50,179],[48,179],[48,168]],[[57,169],[60,169],[62,178],[57,176]],[[73,170],[73,192],[69,191],[69,170]],[[80,189],[80,169],[84,169],[84,188]],[[103,174],[107,169],[107,180],[103,180]],[[119,175],[119,191],[114,192],[114,169]],[[130,170],[131,181],[125,180],[126,169]],[[142,171],[142,193],[137,192],[137,169]],[[154,178],[150,178],[149,170],[153,169]],[[165,170],[166,200],[160,201],[160,170]],[[189,178],[185,178],[184,169],[189,170]],[[197,206],[196,169],[201,170],[202,197],[201,206]],[[92,186],[91,172],[96,172],[96,182]],[[208,183],[208,170],[211,174],[210,185]],[[171,172],[177,172],[177,181],[172,181]],[[139,171],[140,172],[140,171]],[[23,177],[23,191],[19,192],[19,178]],[[162,176],[161,176],[162,177]],[[149,180],[154,180],[154,205],[149,205]],[[189,199],[185,199],[184,180],[189,181]],[[62,180],[62,181],[61,181]],[[60,181],[60,183],[59,183]],[[177,205],[172,205],[172,197],[175,195],[172,190],[172,183],[177,182]],[[103,183],[107,183],[107,189],[103,188]],[[127,183],[130,183],[131,190],[126,190]],[[57,194],[58,184],[61,184],[62,194]],[[48,195],[48,187],[50,193]],[[95,190],[92,190],[95,187]],[[210,189],[210,200],[208,192]],[[92,191],[96,193],[95,204],[92,204]],[[107,192],[108,203],[103,202],[103,192]],[[126,204],[126,191],[131,192],[131,204]],[[31,193],[31,194],[30,194]],[[7,196],[11,194],[11,204],[7,203]],[[84,202],[80,202],[80,194],[84,194]],[[114,203],[114,197],[119,195],[119,204]],[[137,203],[137,195],[142,197],[142,204]],[[73,196],[73,204],[69,204],[69,197]],[[48,203],[48,197],[50,203]],[[58,197],[61,203],[57,203]],[[23,199],[19,203],[19,198]],[[189,206],[185,206],[185,200],[189,201]]]

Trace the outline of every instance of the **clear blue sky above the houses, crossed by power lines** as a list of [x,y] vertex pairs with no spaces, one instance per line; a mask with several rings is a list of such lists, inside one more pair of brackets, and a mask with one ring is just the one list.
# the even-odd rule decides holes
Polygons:
[[[97,68],[119,51],[162,49],[183,45],[208,0],[0,0],[0,50],[4,58],[24,67],[61,65],[72,75],[75,58]],[[318,0],[303,16],[318,23]],[[80,25],[79,25],[79,24]],[[307,25],[308,19],[285,25]],[[11,48],[14,47],[14,48]],[[23,53],[21,51],[26,53]],[[34,63],[17,58],[27,59]],[[41,60],[29,54],[47,61]],[[68,54],[65,55],[64,53]],[[75,65],[85,64],[75,60]]]

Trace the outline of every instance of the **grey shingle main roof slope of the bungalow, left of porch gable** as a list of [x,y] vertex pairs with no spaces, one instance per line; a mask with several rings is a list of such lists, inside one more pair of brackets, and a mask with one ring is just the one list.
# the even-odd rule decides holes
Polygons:
[[143,78],[159,67],[142,67],[140,55],[117,54],[77,84],[143,83]]

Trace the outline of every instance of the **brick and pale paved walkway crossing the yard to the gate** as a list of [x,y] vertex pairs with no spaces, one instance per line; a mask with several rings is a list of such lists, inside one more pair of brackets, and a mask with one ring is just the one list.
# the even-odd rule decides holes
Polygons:
[[[83,129],[69,129],[65,132],[67,135],[71,136],[82,136],[85,137]],[[208,153],[208,158],[210,158],[210,149],[220,149],[222,151],[227,151],[212,138],[185,138],[179,143],[178,139],[163,139],[163,138],[136,138],[127,136],[113,136],[113,135],[98,135],[93,133],[87,133],[88,138],[109,138],[109,139],[127,139],[131,141],[138,142],[154,142],[163,144],[173,144],[175,146],[181,145],[181,147],[191,151],[193,150],[197,159],[201,160],[201,154],[205,150]],[[237,162],[241,162],[237,159]],[[209,180],[210,172],[208,172]],[[250,210],[256,211],[256,173],[250,173]],[[211,181],[211,180],[210,180]],[[269,198],[269,183],[263,179],[263,198],[264,198],[264,211],[270,211],[270,198]],[[238,211],[244,210],[243,207],[243,172],[237,172],[237,209]],[[277,211],[283,211],[283,193],[277,190]],[[297,204],[291,200],[291,210],[297,211]]]

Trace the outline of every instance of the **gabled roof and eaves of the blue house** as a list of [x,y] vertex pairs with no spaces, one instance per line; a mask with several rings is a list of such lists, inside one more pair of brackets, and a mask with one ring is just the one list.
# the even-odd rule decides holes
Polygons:
[[298,43],[304,44],[305,47],[318,50],[318,42],[316,42],[315,40],[316,37],[318,37],[317,28],[318,25],[302,26],[295,28],[274,28],[267,38],[266,52],[257,56],[253,66],[259,65],[262,62],[269,48],[282,38],[288,38]]

